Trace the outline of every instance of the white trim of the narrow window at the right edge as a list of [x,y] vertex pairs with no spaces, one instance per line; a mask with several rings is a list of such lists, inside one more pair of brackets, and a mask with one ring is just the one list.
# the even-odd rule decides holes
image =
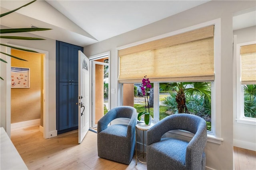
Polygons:
[[240,47],[244,45],[255,44],[256,41],[239,43],[236,45],[236,122],[248,125],[256,125],[256,119],[244,116],[244,85],[241,84],[241,57]]

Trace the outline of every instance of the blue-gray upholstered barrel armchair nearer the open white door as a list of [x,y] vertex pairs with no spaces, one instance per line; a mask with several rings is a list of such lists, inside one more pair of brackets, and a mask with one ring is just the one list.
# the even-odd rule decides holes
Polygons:
[[[116,118],[130,119],[128,125],[109,125]],[[119,106],[111,109],[98,121],[98,156],[123,164],[130,164],[135,148],[137,111],[134,107]]]

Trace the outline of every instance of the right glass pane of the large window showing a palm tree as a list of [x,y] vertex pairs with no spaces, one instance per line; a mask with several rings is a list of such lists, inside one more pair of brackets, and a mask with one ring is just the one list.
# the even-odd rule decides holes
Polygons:
[[175,113],[202,117],[211,131],[211,82],[160,83],[159,119]]

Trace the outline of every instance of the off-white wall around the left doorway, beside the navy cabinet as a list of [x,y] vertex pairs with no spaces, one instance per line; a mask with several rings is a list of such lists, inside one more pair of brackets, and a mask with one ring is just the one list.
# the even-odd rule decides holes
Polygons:
[[[4,29],[7,27],[4,27],[1,25],[1,29]],[[16,34],[17,35],[17,34]],[[39,37],[34,34],[30,33],[19,33],[20,36],[29,36],[29,37]],[[44,38],[44,37],[41,37]],[[12,40],[12,39],[1,39],[1,43],[5,44],[12,44],[12,45],[19,45],[23,47],[28,48],[34,48],[39,49],[43,51],[49,52],[49,131],[55,131],[56,130],[56,41],[54,39],[47,39],[46,40],[40,40],[40,41],[26,41],[26,40]],[[1,46],[1,51],[5,52],[6,47]],[[1,54],[1,58],[5,58],[5,55]],[[10,58],[10,57],[8,57]],[[6,111],[6,80],[9,79],[9,77],[6,77],[6,64],[3,62],[0,62],[1,64],[1,77],[4,78],[3,80],[0,80],[1,85],[1,108],[0,108],[0,127],[4,127],[6,130],[6,125],[10,125],[9,123],[6,123],[6,115],[8,117],[9,111]],[[10,102],[10,101],[9,101]],[[7,128],[8,129],[8,128]],[[7,132],[10,134],[10,132]]]

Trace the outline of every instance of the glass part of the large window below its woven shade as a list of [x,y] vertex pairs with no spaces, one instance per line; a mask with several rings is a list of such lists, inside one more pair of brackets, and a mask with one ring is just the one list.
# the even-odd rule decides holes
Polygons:
[[[134,88],[133,96],[129,95],[132,88]],[[123,105],[133,106],[138,113],[145,110],[146,97],[142,96],[139,89],[139,83],[123,85]],[[211,82],[154,83],[150,93],[148,95],[150,115],[154,122],[175,113],[190,113],[205,119],[207,130],[211,131]]]

